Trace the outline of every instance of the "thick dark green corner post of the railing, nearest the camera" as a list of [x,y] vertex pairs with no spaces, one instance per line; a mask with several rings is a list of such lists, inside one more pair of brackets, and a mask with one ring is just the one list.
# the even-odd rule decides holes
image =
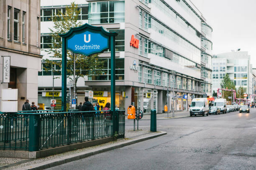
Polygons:
[[40,148],[40,114],[33,113],[29,115],[29,151],[38,151]]

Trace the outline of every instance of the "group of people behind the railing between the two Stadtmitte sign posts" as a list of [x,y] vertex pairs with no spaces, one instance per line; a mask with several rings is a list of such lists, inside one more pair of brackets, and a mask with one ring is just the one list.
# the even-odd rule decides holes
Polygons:
[[[79,103],[77,106],[77,109],[79,111],[98,111],[100,110],[100,105],[99,103],[91,103],[89,101],[88,97],[84,97],[84,104],[82,105],[82,102]],[[107,110],[110,110],[110,103],[107,102],[105,107],[103,108],[105,110],[105,115],[104,115],[104,120],[105,120],[105,133],[106,135],[109,134],[109,129],[110,129],[110,122],[111,122],[111,115],[109,114],[110,112],[106,112]],[[91,119],[93,114],[98,114],[99,112],[83,112],[82,113],[82,118],[85,120],[85,125],[87,129],[87,136],[90,137],[91,135]]]

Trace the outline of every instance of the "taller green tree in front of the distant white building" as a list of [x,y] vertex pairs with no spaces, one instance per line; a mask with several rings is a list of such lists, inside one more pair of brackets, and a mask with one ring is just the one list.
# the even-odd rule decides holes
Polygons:
[[[226,75],[223,77],[223,80],[220,83],[221,88],[224,89],[229,89],[229,90],[236,90],[236,85],[234,84],[233,81],[230,80],[229,75],[226,73]],[[232,92],[231,91],[224,91],[224,97],[227,101],[231,101],[228,97],[232,97]]]

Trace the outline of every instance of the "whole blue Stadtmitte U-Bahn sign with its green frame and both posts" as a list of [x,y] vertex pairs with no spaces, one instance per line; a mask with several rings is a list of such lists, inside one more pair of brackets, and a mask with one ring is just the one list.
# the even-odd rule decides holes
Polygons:
[[61,109],[67,110],[67,50],[77,54],[90,56],[111,50],[111,110],[113,112],[113,132],[118,131],[118,119],[115,113],[115,36],[117,33],[108,32],[103,27],[84,24],[71,28],[67,33],[60,34],[62,38],[62,96]]

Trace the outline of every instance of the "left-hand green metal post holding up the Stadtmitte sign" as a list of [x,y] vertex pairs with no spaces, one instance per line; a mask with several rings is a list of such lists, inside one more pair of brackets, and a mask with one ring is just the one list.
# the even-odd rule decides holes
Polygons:
[[62,37],[62,63],[61,63],[61,110],[67,111],[67,39]]

